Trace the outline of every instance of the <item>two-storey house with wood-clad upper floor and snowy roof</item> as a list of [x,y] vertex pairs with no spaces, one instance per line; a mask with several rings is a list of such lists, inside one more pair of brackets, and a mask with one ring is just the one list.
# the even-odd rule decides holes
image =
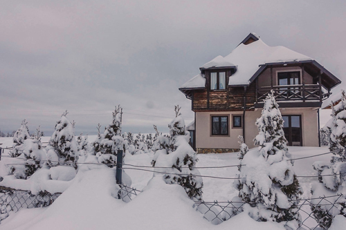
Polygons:
[[226,57],[199,68],[179,90],[192,102],[197,153],[237,151],[238,136],[254,147],[263,99],[273,90],[289,146],[319,146],[319,108],[340,80],[316,60],[249,34]]

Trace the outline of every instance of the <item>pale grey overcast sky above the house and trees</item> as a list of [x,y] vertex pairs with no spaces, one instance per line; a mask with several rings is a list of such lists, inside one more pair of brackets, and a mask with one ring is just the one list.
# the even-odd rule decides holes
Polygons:
[[26,118],[51,135],[68,110],[75,133],[93,135],[120,104],[124,131],[166,132],[174,105],[186,123],[194,117],[179,86],[249,32],[346,82],[345,10],[346,1],[2,1],[0,130]]

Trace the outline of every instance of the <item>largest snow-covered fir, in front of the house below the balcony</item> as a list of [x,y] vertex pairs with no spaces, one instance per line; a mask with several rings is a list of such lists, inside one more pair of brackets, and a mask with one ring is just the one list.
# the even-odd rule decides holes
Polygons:
[[239,198],[248,203],[244,210],[253,219],[284,224],[289,221],[287,227],[296,229],[300,215],[294,200],[301,191],[289,160],[278,107],[272,94],[264,100],[262,116],[256,122],[260,133],[254,140],[259,147],[243,156],[239,180],[234,185]]

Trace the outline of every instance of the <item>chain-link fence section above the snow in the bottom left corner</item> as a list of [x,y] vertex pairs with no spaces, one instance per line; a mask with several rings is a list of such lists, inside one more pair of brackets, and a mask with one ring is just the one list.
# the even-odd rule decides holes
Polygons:
[[36,207],[47,207],[52,204],[61,193],[39,192],[33,195],[30,191],[10,189],[0,186],[0,222],[8,217],[11,211]]

